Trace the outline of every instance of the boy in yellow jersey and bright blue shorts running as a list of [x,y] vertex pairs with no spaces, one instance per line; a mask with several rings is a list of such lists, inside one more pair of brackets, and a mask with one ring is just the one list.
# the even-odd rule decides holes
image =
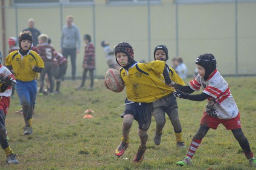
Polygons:
[[16,92],[20,98],[25,120],[24,134],[33,133],[32,113],[35,106],[38,72],[44,70],[44,61],[34,51],[30,50],[32,36],[26,32],[20,34],[19,51],[11,52],[5,59],[6,67],[13,70],[16,76]]

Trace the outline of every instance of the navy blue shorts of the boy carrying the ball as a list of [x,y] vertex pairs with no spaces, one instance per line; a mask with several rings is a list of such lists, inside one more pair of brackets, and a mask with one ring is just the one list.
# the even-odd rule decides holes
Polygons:
[[132,103],[132,101],[128,101],[126,98],[125,104],[125,111],[121,115],[121,118],[123,118],[124,115],[133,115],[134,119],[139,123],[139,129],[148,130],[153,112],[152,103]]

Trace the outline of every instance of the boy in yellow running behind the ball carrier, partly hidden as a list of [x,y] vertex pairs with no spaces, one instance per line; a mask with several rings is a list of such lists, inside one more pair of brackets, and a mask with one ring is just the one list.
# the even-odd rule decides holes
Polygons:
[[[167,61],[168,49],[165,45],[158,45],[154,49],[154,60]],[[170,79],[175,81],[178,84],[185,85],[184,81],[180,78],[179,75],[175,72],[174,69],[170,68],[166,64],[166,68],[168,69]],[[169,119],[172,122],[172,126],[174,129],[175,137],[176,137],[176,145],[178,148],[186,147],[182,138],[182,128],[179,120],[178,106],[176,97],[173,93],[166,95],[163,98],[158,99],[153,102],[153,116],[156,121],[156,130],[154,135],[154,143],[156,145],[160,145],[161,136],[163,134],[163,127],[166,123],[165,112],[168,115]]]

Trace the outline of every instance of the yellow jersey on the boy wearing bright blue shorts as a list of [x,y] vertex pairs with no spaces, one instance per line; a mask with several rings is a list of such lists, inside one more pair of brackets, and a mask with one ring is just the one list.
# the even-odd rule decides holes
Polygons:
[[33,66],[44,68],[44,61],[32,50],[23,57],[18,51],[14,51],[6,57],[5,65],[12,66],[17,80],[32,81],[38,75],[32,70]]

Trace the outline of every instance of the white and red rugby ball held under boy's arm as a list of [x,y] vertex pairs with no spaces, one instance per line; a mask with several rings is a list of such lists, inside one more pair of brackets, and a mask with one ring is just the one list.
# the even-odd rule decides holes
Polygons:
[[122,92],[125,84],[122,81],[120,73],[116,69],[109,69],[105,74],[105,81],[113,92]]

